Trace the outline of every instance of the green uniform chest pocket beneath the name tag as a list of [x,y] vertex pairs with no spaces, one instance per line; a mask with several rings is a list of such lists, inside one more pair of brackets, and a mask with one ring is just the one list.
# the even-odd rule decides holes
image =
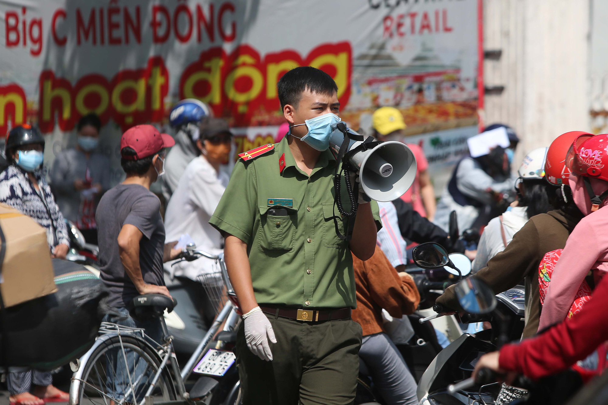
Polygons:
[[[288,215],[270,215],[271,208],[286,209]],[[295,220],[297,211],[291,207],[260,206],[260,229],[258,229],[258,249],[260,251],[294,250]]]

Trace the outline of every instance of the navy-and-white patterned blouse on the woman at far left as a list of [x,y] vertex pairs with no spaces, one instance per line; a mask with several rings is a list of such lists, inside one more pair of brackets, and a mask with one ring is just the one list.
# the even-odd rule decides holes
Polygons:
[[58,244],[69,246],[67,226],[50,192],[49,184],[41,170],[36,170],[34,175],[38,180],[40,194],[36,192],[25,171],[15,165],[7,167],[0,173],[0,202],[18,209],[44,226],[51,252]]

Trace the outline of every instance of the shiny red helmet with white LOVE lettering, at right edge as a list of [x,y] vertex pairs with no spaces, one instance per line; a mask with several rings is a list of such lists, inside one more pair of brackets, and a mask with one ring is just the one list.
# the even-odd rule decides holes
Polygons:
[[576,137],[566,165],[572,173],[608,181],[608,134],[581,134]]

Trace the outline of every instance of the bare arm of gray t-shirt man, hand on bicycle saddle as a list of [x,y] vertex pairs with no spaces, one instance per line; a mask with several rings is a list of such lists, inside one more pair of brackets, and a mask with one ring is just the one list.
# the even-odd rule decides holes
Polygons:
[[142,237],[142,232],[134,225],[125,224],[120,229],[118,249],[125,272],[139,294],[163,294],[171,297],[167,287],[147,284],[143,281],[142,269],[139,267],[139,242]]

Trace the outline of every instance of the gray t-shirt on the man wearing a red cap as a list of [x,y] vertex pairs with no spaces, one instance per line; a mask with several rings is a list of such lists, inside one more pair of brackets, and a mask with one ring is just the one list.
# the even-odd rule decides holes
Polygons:
[[139,243],[143,281],[165,285],[162,274],[165,225],[160,208],[158,197],[139,184],[117,185],[103,195],[97,206],[101,279],[109,289],[108,303],[114,308],[131,308],[131,300],[139,295],[120,261],[118,235],[125,224],[136,226],[143,234]]

